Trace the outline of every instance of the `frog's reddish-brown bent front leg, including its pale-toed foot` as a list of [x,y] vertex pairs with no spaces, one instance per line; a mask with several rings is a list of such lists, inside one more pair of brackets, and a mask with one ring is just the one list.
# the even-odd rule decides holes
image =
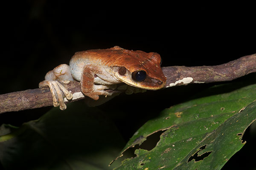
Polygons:
[[[101,85],[96,85],[97,74],[102,74],[102,72],[96,65],[84,65],[80,81],[82,93],[94,100],[98,100],[99,95],[111,96],[112,94],[105,91],[105,89],[116,88],[116,85],[104,84],[104,80],[102,80],[103,83]],[[98,79],[100,78],[98,77]]]

